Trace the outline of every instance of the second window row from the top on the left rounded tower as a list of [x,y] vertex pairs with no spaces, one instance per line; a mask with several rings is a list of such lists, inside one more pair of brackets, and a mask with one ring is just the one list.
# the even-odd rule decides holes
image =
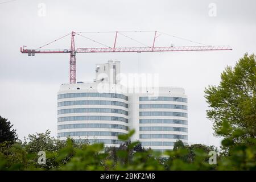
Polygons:
[[73,105],[110,105],[110,106],[122,106],[128,108],[128,104],[119,101],[65,101],[58,102],[58,107],[61,106],[73,106]]

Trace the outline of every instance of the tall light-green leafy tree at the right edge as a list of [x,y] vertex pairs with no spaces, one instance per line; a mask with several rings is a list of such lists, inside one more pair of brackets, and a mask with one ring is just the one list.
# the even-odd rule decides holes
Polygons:
[[205,98],[210,107],[207,116],[213,121],[215,135],[226,139],[240,129],[242,134],[232,138],[234,143],[256,137],[255,58],[254,54],[246,53],[234,68],[226,67],[221,74],[220,85],[205,89]]

